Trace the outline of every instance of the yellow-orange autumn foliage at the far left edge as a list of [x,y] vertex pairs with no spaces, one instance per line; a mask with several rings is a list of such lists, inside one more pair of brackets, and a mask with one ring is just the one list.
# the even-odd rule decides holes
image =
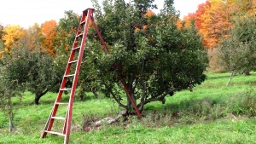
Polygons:
[[3,29],[3,42],[5,51],[11,53],[12,47],[15,47],[20,38],[24,35],[25,31],[20,25],[7,26]]

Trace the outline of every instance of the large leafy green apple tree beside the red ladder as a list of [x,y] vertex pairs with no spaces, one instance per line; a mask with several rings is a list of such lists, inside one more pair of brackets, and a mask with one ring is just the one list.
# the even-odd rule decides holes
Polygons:
[[80,73],[81,83],[90,82],[113,98],[125,113],[132,114],[126,86],[140,112],[152,101],[165,103],[167,95],[201,84],[206,75],[207,53],[193,24],[178,29],[178,14],[166,0],[160,14],[152,14],[154,0],[93,0],[96,25],[108,45],[103,50],[96,32],[90,32]]

